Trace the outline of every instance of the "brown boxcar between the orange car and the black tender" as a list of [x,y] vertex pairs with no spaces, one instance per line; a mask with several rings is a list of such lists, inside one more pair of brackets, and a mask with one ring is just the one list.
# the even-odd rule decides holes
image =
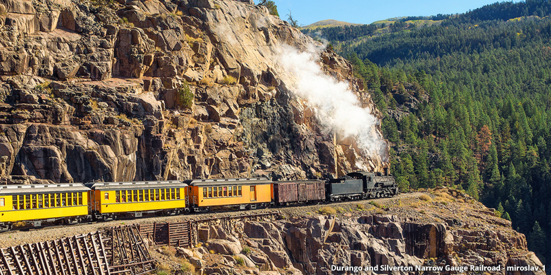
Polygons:
[[275,203],[305,203],[325,199],[325,181],[275,181],[273,183]]

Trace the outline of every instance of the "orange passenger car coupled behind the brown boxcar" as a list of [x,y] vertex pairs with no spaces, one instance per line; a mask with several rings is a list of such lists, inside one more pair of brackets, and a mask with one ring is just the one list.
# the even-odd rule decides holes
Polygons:
[[248,179],[194,179],[189,185],[189,204],[194,211],[216,207],[256,209],[273,199],[273,181],[264,177]]

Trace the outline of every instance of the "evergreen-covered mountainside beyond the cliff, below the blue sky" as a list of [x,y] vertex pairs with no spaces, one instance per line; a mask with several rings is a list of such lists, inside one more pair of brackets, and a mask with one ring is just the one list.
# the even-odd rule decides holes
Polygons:
[[[384,113],[401,190],[465,190],[551,259],[551,1],[303,30]],[[428,23],[430,22],[430,23]]]

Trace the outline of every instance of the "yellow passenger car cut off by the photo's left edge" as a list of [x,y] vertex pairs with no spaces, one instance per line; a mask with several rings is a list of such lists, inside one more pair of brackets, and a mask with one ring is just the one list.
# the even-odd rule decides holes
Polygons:
[[8,185],[0,187],[0,229],[26,221],[76,223],[90,218],[83,184]]

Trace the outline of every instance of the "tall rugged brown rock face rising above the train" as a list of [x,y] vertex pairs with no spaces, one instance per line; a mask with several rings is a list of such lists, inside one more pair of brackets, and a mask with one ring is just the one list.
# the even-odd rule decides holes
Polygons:
[[[289,92],[278,48],[315,42],[252,1],[0,3],[3,181],[290,179],[384,166],[322,131]],[[344,58],[326,51],[319,63],[380,117]]]

